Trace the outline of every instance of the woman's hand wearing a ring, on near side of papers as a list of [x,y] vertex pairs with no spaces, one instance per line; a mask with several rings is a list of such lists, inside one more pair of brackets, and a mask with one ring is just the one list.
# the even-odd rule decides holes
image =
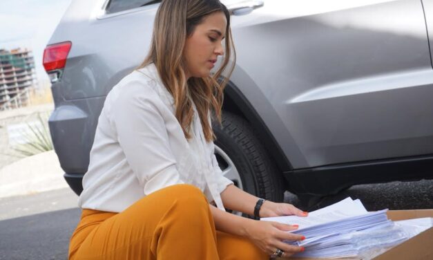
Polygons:
[[284,251],[282,258],[290,257],[292,254],[302,252],[303,247],[289,245],[282,241],[301,241],[305,237],[301,234],[291,234],[287,231],[296,230],[296,225],[286,225],[271,221],[253,221],[248,220],[247,237],[253,241],[261,250],[269,254],[273,254],[278,249]]

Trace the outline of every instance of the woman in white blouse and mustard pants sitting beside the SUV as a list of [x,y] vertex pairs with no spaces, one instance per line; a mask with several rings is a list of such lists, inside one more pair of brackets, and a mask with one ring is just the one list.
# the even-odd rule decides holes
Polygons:
[[224,210],[307,214],[263,202],[221,174],[211,111],[220,121],[228,79],[216,79],[231,50],[220,1],[162,1],[148,57],[108,93],[99,116],[69,259],[269,259],[303,250],[282,242],[303,239],[285,232],[296,226]]

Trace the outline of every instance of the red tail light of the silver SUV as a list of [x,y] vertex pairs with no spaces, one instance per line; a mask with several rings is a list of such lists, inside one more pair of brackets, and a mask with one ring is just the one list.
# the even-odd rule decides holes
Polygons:
[[57,82],[61,78],[61,73],[63,73],[63,69],[65,68],[71,46],[72,42],[70,41],[46,46],[43,63],[52,83]]

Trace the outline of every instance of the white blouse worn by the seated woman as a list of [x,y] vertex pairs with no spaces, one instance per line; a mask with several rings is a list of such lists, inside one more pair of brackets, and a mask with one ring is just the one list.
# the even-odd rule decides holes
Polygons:
[[233,182],[222,176],[193,109],[192,138],[186,140],[155,65],[126,75],[99,115],[79,206],[122,212],[158,189],[188,183],[224,210],[220,193]]

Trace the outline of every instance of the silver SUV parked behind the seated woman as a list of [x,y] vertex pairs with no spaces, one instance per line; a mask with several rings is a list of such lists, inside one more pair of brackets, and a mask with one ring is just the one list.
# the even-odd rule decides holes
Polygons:
[[[73,0],[46,47],[51,136],[77,194],[105,97],[144,59],[159,2]],[[238,59],[215,145],[236,185],[281,201],[433,178],[433,1],[223,2]]]

